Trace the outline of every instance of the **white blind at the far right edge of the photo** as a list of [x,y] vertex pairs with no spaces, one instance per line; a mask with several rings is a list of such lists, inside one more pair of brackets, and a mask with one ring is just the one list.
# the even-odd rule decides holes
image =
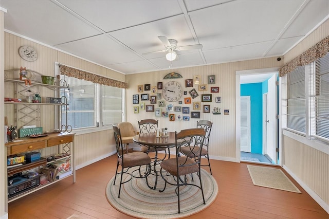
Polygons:
[[315,61],[315,122],[311,124],[316,136],[329,139],[329,53]]

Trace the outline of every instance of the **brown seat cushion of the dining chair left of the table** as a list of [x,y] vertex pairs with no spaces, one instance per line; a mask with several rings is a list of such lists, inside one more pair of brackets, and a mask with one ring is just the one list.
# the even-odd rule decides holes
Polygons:
[[118,160],[122,167],[136,167],[151,163],[151,158],[149,157],[149,155],[139,151],[124,154],[123,163],[121,158],[118,158]]

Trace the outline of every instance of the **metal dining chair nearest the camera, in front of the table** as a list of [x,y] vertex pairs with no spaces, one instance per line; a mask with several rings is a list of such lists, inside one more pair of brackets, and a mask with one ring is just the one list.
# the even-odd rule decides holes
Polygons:
[[[200,167],[201,164],[200,151],[202,150],[202,147],[204,145],[205,135],[206,135],[206,131],[202,128],[181,130],[179,133],[175,132],[176,157],[162,160],[160,162],[160,167],[161,167],[160,173],[162,179],[165,180],[165,187],[159,191],[160,192],[165,191],[167,184],[176,186],[176,194],[178,196],[178,213],[180,213],[179,188],[181,186],[191,185],[198,187],[202,193],[203,203],[206,204],[204,190],[201,181],[201,167]],[[182,148],[189,149],[190,152],[187,154],[188,156],[179,156]],[[199,158],[194,159],[191,157],[199,157]],[[197,176],[199,178],[199,185],[193,183],[194,180],[191,180],[191,182],[187,180],[186,175],[192,173],[197,173]],[[174,180],[172,180],[171,176],[174,177]],[[196,197],[194,195],[191,198],[195,199]]]

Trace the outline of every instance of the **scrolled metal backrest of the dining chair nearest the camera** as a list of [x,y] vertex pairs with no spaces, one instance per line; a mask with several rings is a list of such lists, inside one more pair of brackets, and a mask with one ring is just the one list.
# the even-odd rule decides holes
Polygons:
[[180,163],[180,166],[187,165],[186,161],[188,160],[189,157],[195,157],[195,158],[198,157],[198,159],[195,159],[196,163],[200,162],[201,160],[200,152],[202,151],[202,147],[204,145],[205,135],[206,135],[206,131],[202,128],[185,129],[185,130],[181,130],[179,133],[175,132],[177,163],[178,163],[179,153],[181,152],[180,148],[182,147],[189,148],[189,153],[185,153],[186,155],[185,162]]

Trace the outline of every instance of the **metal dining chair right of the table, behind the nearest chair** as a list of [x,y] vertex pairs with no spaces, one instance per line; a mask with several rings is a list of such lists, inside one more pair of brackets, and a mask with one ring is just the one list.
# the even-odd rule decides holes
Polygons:
[[[210,160],[209,160],[209,137],[210,137],[211,127],[212,127],[212,122],[208,121],[208,120],[200,120],[200,121],[196,122],[196,127],[202,128],[206,131],[203,148],[202,148],[202,150],[200,150],[200,153],[201,153],[200,155],[202,157],[206,157],[208,159],[208,164],[201,165],[201,166],[209,167],[210,174],[212,175],[211,167],[210,167]],[[199,149],[197,147],[195,147],[193,150],[199,151]],[[191,154],[188,148],[181,148],[181,152],[182,152],[182,154],[189,156],[191,158],[195,158],[195,159],[199,158],[198,154],[197,154],[197,156],[194,157],[194,154],[193,153]]]

